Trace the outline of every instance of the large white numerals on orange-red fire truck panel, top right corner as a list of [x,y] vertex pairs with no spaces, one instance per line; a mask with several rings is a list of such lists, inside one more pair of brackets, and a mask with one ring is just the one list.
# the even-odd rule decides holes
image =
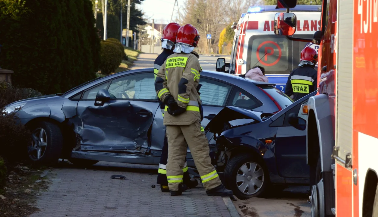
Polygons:
[[[366,9],[364,10],[363,7]],[[372,22],[378,22],[378,1],[358,0],[357,14],[360,15],[360,33],[372,33]],[[366,13],[366,14],[365,14]]]

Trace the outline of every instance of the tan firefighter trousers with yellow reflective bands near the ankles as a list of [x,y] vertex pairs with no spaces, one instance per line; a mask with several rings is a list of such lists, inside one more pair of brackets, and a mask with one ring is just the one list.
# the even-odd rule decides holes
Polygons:
[[183,183],[187,146],[191,150],[204,189],[210,190],[222,184],[217,171],[211,165],[209,143],[200,121],[185,126],[167,125],[166,134],[168,139],[167,180],[169,190],[178,191],[180,183]]

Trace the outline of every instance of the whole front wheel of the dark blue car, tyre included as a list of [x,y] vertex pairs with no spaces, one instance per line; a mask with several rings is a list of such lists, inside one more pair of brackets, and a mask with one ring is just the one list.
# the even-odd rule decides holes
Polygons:
[[249,153],[232,157],[225,168],[225,185],[240,200],[261,197],[269,183],[262,159]]

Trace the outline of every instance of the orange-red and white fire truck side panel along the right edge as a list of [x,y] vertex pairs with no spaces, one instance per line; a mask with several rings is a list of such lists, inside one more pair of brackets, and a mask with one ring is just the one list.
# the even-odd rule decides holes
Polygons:
[[364,216],[372,211],[378,172],[378,2],[354,0],[353,15],[353,197]]

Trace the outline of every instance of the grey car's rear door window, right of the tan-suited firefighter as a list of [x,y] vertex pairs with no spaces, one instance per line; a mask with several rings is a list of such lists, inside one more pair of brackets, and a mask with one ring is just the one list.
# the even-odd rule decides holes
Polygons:
[[200,97],[203,105],[225,106],[231,86],[219,81],[200,78]]

